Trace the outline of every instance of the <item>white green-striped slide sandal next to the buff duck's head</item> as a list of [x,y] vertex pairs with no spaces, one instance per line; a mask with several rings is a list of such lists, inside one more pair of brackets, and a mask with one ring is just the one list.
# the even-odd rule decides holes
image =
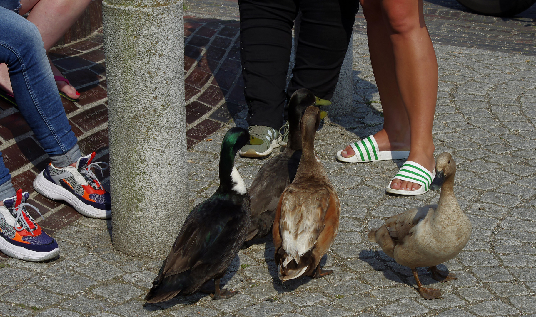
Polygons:
[[[394,190],[393,188],[391,188],[391,183],[395,178],[407,180],[408,182],[412,183],[417,183],[421,185],[421,187],[416,191]],[[406,196],[422,195],[430,190],[430,184],[432,183],[432,180],[434,180],[434,178],[435,169],[430,173],[430,171],[428,171],[421,164],[415,163],[413,161],[406,161],[398,170],[397,175],[395,175],[391,179],[391,182],[389,182],[389,185],[387,185],[385,192]]]

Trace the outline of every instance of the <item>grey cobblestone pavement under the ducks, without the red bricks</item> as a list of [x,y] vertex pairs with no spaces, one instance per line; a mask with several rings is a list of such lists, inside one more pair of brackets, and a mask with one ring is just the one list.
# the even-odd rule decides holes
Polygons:
[[[235,12],[236,3],[221,3],[227,5],[219,9],[222,12]],[[198,15],[195,10],[192,7],[187,14]],[[231,13],[205,18],[229,20]],[[199,25],[192,25],[196,27],[193,35],[211,23],[196,21]],[[507,23],[514,25],[517,21]],[[455,193],[470,217],[473,234],[464,251],[444,263],[459,280],[438,283],[422,270],[423,283],[440,288],[444,296],[441,300],[423,300],[412,288],[415,281],[411,271],[368,243],[366,234],[382,223],[379,218],[437,202],[438,193],[413,198],[385,195],[383,188],[400,161],[343,164],[334,159],[337,150],[349,142],[382,128],[382,108],[370,69],[367,39],[359,28],[356,25],[354,33],[354,115],[326,118],[316,139],[317,153],[342,203],[339,236],[323,260],[333,274],[281,284],[273,263],[273,245],[266,238],[241,250],[224,278],[226,287],[240,290],[239,295],[212,301],[198,294],[144,305],[143,296],[162,259],[116,253],[111,245],[110,222],[80,217],[54,233],[62,250],[59,259],[47,263],[2,259],[0,315],[536,316],[536,56],[530,52],[519,54],[513,48],[508,51],[507,46],[483,48],[478,41],[471,42],[472,37],[466,43],[470,48],[459,42],[435,42],[440,65],[433,132],[436,154],[448,151],[458,163]],[[531,28],[534,32],[534,26]],[[517,43],[516,36],[525,34],[513,34],[509,41]],[[531,49],[530,43],[523,45]],[[227,54],[230,50],[227,47]],[[106,88],[104,79],[99,80],[99,87]],[[232,85],[240,87],[237,77]],[[235,96],[231,103],[226,94],[226,104],[230,104],[227,111],[214,107],[203,115],[206,117],[196,119],[210,119],[207,116],[220,108],[225,116],[232,117],[228,123],[222,118],[219,130],[214,129],[210,137],[190,143],[192,206],[210,197],[218,186],[218,150],[227,129],[247,126],[243,119],[246,110],[238,94]],[[79,108],[75,111],[85,110],[84,106]],[[4,145],[0,148],[5,151]],[[264,162],[237,158],[235,165],[249,185]]]

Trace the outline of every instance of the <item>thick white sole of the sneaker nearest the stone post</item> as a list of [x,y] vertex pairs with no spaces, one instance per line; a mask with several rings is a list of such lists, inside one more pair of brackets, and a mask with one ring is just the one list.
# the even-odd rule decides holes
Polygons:
[[44,197],[66,201],[72,208],[75,208],[77,212],[86,217],[98,219],[109,219],[111,217],[111,210],[102,210],[86,205],[62,186],[56,185],[44,178],[43,171],[34,179],[34,188],[36,192]]

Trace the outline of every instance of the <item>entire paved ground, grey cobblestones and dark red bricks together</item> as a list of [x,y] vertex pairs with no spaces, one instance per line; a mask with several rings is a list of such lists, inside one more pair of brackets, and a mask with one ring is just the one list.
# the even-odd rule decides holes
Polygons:
[[[465,250],[445,263],[459,280],[437,283],[427,274],[422,278],[425,284],[442,289],[444,299],[422,300],[410,287],[415,283],[411,272],[366,241],[368,229],[381,224],[379,218],[434,203],[438,194],[429,192],[414,198],[385,195],[383,187],[400,161],[342,164],[334,160],[337,150],[378,131],[383,122],[367,39],[362,32],[364,20],[358,16],[353,115],[325,119],[316,140],[318,155],[343,203],[340,233],[324,260],[325,266],[334,270],[332,275],[279,283],[272,260],[273,245],[266,238],[241,250],[224,278],[226,287],[240,290],[239,295],[221,301],[193,295],[144,306],[143,296],[162,259],[116,253],[111,246],[109,221],[80,217],[70,207],[32,193],[34,201],[51,209],[46,221],[55,224],[46,228],[56,230],[53,236],[62,251],[59,259],[47,263],[13,259],[0,262],[0,315],[534,316],[533,21],[525,29],[522,24],[529,24],[523,20],[526,17],[478,17],[459,10],[453,2],[425,5],[440,65],[434,122],[436,154],[448,151],[455,157],[455,192],[473,224]],[[189,46],[185,59],[187,85],[195,93],[187,97],[193,205],[216,190],[219,144],[229,127],[247,126],[247,110],[241,99],[240,72],[233,68],[239,65],[234,45],[237,30],[236,21],[229,20],[237,19],[236,2],[198,1],[189,6],[186,14],[196,16],[188,17],[185,25]],[[531,10],[534,7],[524,14],[534,19]],[[452,29],[448,23],[458,28]],[[486,29],[475,31],[475,25]],[[502,37],[486,36],[501,30]],[[98,155],[107,160],[106,73],[101,41],[100,34],[94,34],[74,46],[58,48],[54,58],[66,70],[66,76],[86,90],[83,95],[87,96],[80,102],[64,104],[80,142],[86,150],[99,149]],[[3,104],[0,107],[0,150],[11,158],[6,164],[13,164],[13,178],[21,179],[17,184],[31,190],[31,180],[46,163],[46,156],[36,147],[18,112]],[[229,118],[232,120],[227,122]],[[247,185],[264,162],[237,159],[236,167]],[[45,222],[41,222],[43,227]]]

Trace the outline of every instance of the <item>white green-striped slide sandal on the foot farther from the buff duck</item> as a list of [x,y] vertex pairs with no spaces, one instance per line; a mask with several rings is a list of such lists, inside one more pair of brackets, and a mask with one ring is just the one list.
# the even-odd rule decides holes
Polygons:
[[343,150],[337,152],[337,160],[341,162],[373,162],[373,161],[388,161],[388,160],[403,160],[407,159],[410,151],[381,151],[373,135],[369,135],[366,139],[357,141],[350,145],[354,149],[354,156],[344,157],[341,155]]

